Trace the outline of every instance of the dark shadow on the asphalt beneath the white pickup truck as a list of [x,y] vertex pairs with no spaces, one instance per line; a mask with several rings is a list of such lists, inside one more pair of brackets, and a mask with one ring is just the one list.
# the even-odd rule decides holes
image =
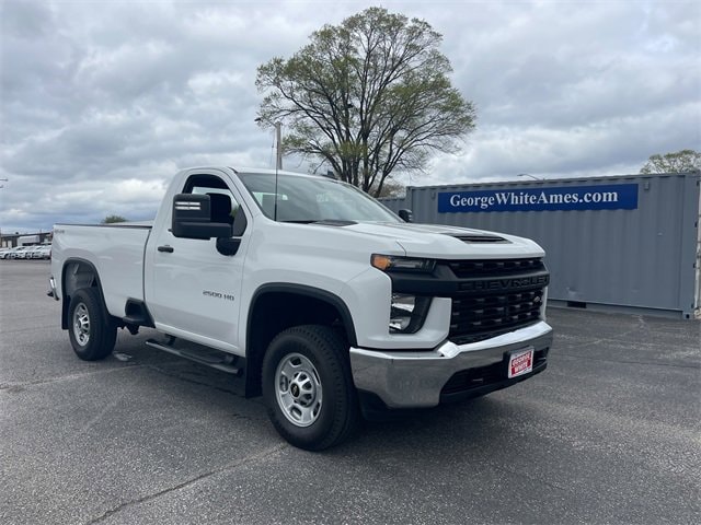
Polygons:
[[[163,396],[184,407],[226,410],[233,416],[231,421],[221,421],[228,431],[235,430],[242,421],[255,421],[258,430],[254,432],[269,427],[274,433],[262,398],[246,399],[237,394],[234,380],[228,374],[147,347],[143,341],[152,335],[149,330],[142,331],[137,337],[120,336],[105,364],[147,369],[162,380],[159,388],[163,389]],[[519,427],[532,423],[532,415],[522,406],[516,406],[519,388],[524,386],[434,408],[382,412],[363,420],[350,440],[322,454],[366,454],[368,447],[376,451],[391,447],[411,455],[426,446],[463,452],[514,446],[515,440],[522,435]],[[242,432],[251,430],[241,429]]]

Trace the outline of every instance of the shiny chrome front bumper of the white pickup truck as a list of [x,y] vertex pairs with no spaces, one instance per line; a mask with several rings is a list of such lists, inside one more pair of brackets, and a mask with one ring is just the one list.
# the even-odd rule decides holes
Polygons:
[[513,350],[550,348],[552,328],[539,322],[484,341],[446,341],[427,351],[386,351],[350,348],[356,388],[376,394],[388,408],[434,407],[444,385],[456,373],[499,363]]

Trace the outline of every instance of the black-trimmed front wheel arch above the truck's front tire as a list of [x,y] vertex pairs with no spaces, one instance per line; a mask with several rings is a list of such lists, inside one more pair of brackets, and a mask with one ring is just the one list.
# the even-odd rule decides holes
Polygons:
[[268,283],[252,299],[246,323],[245,395],[261,395],[263,355],[280,331],[299,325],[337,328],[350,346],[357,343],[353,316],[337,295],[304,284]]

